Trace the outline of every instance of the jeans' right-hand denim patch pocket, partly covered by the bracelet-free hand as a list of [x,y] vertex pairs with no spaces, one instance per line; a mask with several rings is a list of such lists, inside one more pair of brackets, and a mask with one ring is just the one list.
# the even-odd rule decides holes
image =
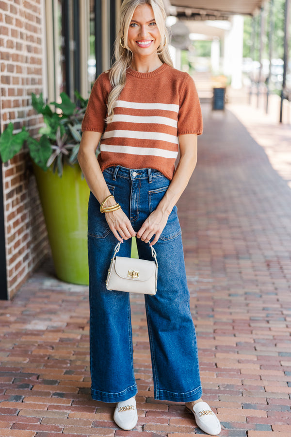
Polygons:
[[[156,190],[151,190],[148,192],[148,204],[149,211],[152,213],[161,202],[168,186],[162,188],[157,188]],[[168,217],[166,226],[164,227],[162,234],[160,235],[161,240],[172,240],[181,234],[181,227],[177,214],[177,206],[175,205]]]

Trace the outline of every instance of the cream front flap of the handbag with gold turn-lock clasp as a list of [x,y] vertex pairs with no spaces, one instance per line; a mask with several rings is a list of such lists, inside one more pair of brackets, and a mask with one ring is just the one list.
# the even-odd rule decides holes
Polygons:
[[145,259],[115,257],[115,272],[124,279],[148,281],[156,272],[156,263]]

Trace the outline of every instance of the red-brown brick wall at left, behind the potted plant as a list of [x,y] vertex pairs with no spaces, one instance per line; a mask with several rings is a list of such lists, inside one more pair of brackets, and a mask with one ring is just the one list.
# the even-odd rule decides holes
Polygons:
[[[0,0],[0,123],[36,134],[42,119],[31,93],[43,86],[42,0]],[[2,164],[3,165],[3,164]],[[3,165],[6,263],[10,298],[49,252],[49,244],[27,154]]]

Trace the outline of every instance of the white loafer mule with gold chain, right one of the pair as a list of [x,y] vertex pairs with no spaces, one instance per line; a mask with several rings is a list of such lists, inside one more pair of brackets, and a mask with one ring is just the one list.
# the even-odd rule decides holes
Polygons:
[[188,407],[186,408],[194,414],[196,424],[200,429],[202,429],[202,431],[210,434],[210,436],[218,436],[221,432],[220,421],[217,419],[208,403],[203,401],[195,403],[193,410],[190,410]]

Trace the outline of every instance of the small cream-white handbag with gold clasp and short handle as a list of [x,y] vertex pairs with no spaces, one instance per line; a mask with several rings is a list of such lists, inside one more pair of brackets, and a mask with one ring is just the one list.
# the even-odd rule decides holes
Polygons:
[[107,290],[154,295],[157,292],[157,253],[151,247],[155,261],[116,256],[120,243],[115,246],[106,279]]

